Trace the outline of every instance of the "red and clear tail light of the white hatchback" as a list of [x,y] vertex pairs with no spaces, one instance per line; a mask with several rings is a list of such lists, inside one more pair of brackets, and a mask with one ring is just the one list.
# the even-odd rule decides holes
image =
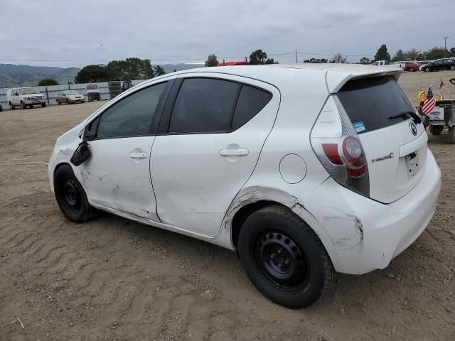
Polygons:
[[328,97],[311,130],[311,146],[336,182],[366,197],[370,195],[362,143],[335,95]]

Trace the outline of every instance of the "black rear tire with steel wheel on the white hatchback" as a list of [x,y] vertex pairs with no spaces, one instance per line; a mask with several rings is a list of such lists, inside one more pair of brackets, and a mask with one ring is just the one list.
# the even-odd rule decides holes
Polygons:
[[284,307],[311,305],[331,285],[333,265],[321,240],[282,206],[264,207],[247,218],[238,251],[253,285]]

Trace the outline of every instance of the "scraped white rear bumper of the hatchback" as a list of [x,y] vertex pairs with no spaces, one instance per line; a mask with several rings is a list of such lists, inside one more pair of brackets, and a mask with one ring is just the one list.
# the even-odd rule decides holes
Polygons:
[[424,177],[400,200],[385,205],[329,178],[304,207],[314,217],[309,223],[336,271],[365,274],[384,269],[422,234],[434,215],[440,189],[441,172],[428,150]]

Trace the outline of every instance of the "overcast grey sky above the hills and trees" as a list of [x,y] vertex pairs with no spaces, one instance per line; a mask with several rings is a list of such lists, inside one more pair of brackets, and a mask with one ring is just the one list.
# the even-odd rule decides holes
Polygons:
[[381,44],[393,55],[444,47],[449,36],[454,47],[454,13],[454,0],[0,0],[0,63],[203,63],[259,48],[279,63],[295,62],[295,50],[299,62],[338,52],[355,62]]

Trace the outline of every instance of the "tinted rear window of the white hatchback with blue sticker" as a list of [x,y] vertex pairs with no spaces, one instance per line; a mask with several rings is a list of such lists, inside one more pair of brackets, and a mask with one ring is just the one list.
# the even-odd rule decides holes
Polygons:
[[409,116],[390,117],[415,112],[394,77],[351,80],[338,92],[338,98],[358,134],[392,126]]

